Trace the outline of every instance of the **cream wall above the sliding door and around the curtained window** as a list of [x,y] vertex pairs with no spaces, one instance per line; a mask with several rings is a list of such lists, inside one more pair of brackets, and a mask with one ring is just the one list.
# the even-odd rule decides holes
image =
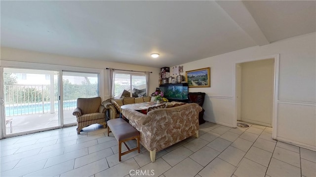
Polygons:
[[[104,70],[104,100],[110,97],[110,92],[108,89],[108,72],[106,68],[114,68],[120,70],[133,70],[133,71],[152,71],[150,74],[150,84],[149,84],[149,95],[155,92],[158,86],[158,74],[159,68],[144,67],[137,65],[127,65],[121,63],[105,62],[101,60],[91,60],[84,58],[74,58],[60,55],[53,55],[47,53],[26,51],[14,48],[1,47],[0,53],[1,60],[6,61],[18,61],[18,62],[28,62],[28,63],[39,63],[39,64],[52,64],[60,66],[72,66],[72,67],[83,67],[92,69],[103,69]],[[0,63],[1,66],[1,63]]]

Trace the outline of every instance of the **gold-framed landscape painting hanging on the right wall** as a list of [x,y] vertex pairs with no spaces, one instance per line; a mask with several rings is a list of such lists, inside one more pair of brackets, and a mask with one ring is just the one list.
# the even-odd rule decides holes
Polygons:
[[210,87],[210,68],[186,71],[186,82],[189,87]]

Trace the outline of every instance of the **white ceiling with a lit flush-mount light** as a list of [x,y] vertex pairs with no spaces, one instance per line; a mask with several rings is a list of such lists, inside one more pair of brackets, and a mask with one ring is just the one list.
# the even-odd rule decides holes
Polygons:
[[316,31],[316,1],[1,0],[0,6],[1,46],[156,68]]

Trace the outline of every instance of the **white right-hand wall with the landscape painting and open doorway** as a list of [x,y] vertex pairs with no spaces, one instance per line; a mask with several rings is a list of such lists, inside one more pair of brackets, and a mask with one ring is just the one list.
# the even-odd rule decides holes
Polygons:
[[235,64],[276,54],[279,54],[276,139],[316,150],[315,33],[181,65],[183,75],[185,71],[211,68],[211,87],[190,88],[189,92],[206,93],[203,105],[205,120],[236,127],[233,98]]

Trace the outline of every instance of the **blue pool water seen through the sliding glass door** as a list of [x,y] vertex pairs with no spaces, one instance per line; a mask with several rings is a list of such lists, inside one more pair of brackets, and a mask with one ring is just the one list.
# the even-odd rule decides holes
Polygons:
[[[63,103],[64,110],[73,110],[77,106],[77,100],[65,101]],[[55,111],[58,111],[58,102],[54,104]],[[22,104],[16,106],[5,106],[5,116],[16,116],[16,115],[28,115],[28,114],[40,114],[49,113],[50,103],[37,103],[37,104]]]

